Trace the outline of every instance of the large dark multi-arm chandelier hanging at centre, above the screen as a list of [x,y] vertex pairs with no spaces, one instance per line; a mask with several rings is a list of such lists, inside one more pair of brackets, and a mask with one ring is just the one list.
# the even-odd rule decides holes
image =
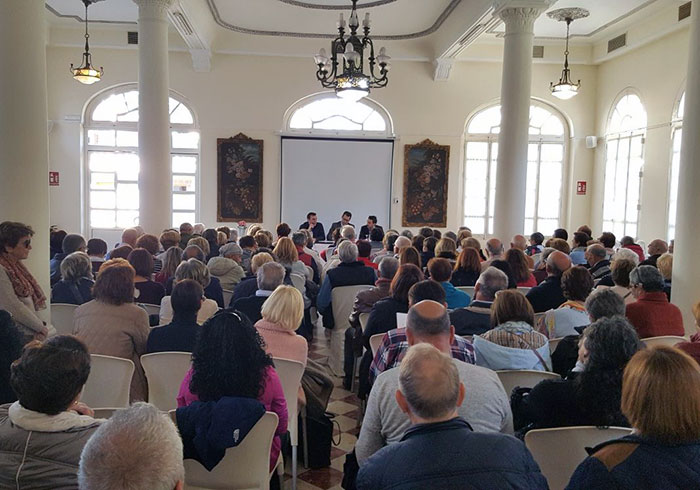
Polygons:
[[[362,21],[364,35],[361,39],[358,37],[360,22],[356,11],[357,0],[351,1],[352,11],[348,20],[350,34],[345,34],[345,19],[341,13],[337,22],[338,37],[331,42],[331,57],[328,58],[326,50],[322,48],[314,56],[314,61],[318,66],[316,78],[324,88],[334,88],[338,97],[357,101],[369,95],[370,88],[386,87],[391,58],[387,56],[385,48],[381,48],[376,57],[374,55],[374,43],[369,37],[369,13]],[[364,73],[366,54],[369,55],[369,75]],[[375,73],[375,70],[379,73]]]

